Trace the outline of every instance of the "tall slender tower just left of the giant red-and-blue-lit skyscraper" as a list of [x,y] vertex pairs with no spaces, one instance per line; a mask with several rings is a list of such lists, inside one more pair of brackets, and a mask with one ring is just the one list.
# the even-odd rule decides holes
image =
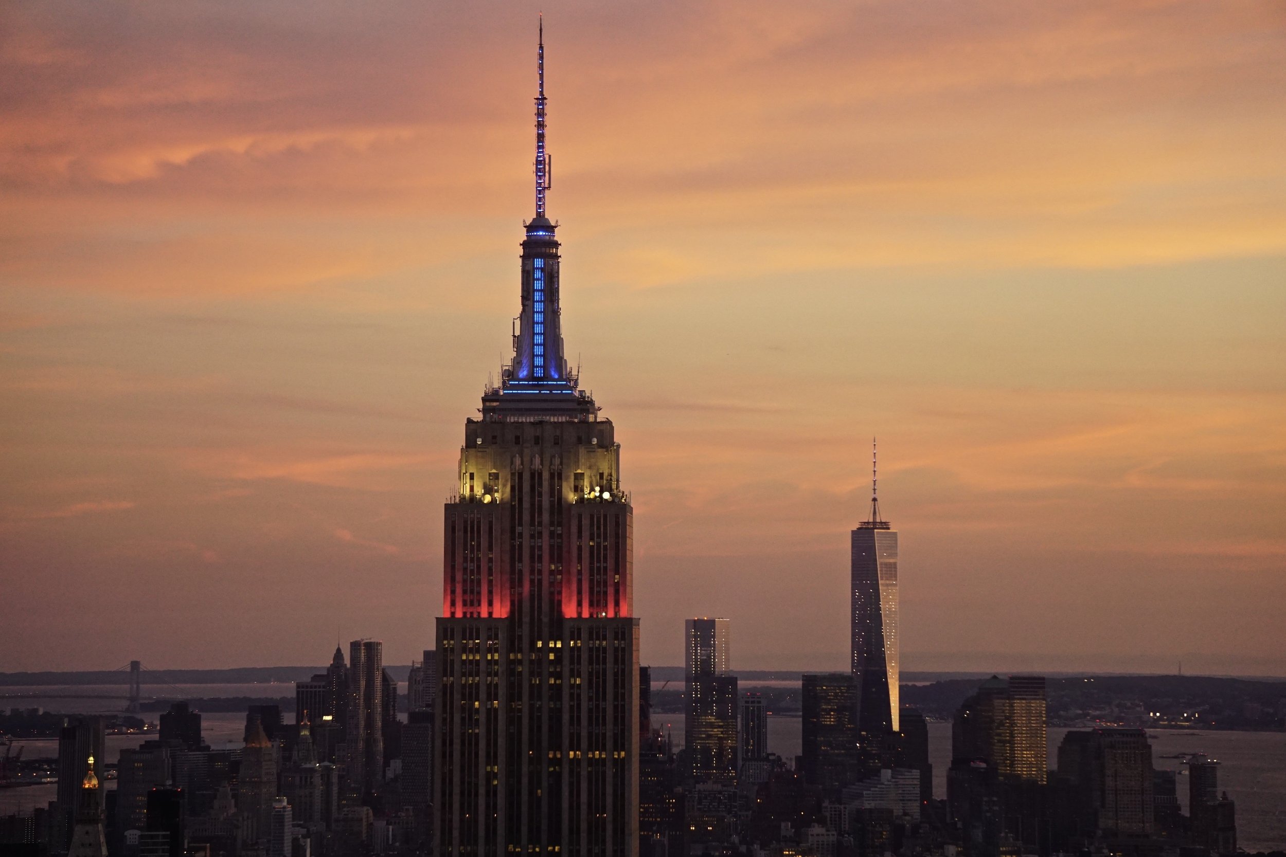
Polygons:
[[383,644],[349,644],[349,712],[345,726],[346,806],[356,806],[383,782],[385,773]]

